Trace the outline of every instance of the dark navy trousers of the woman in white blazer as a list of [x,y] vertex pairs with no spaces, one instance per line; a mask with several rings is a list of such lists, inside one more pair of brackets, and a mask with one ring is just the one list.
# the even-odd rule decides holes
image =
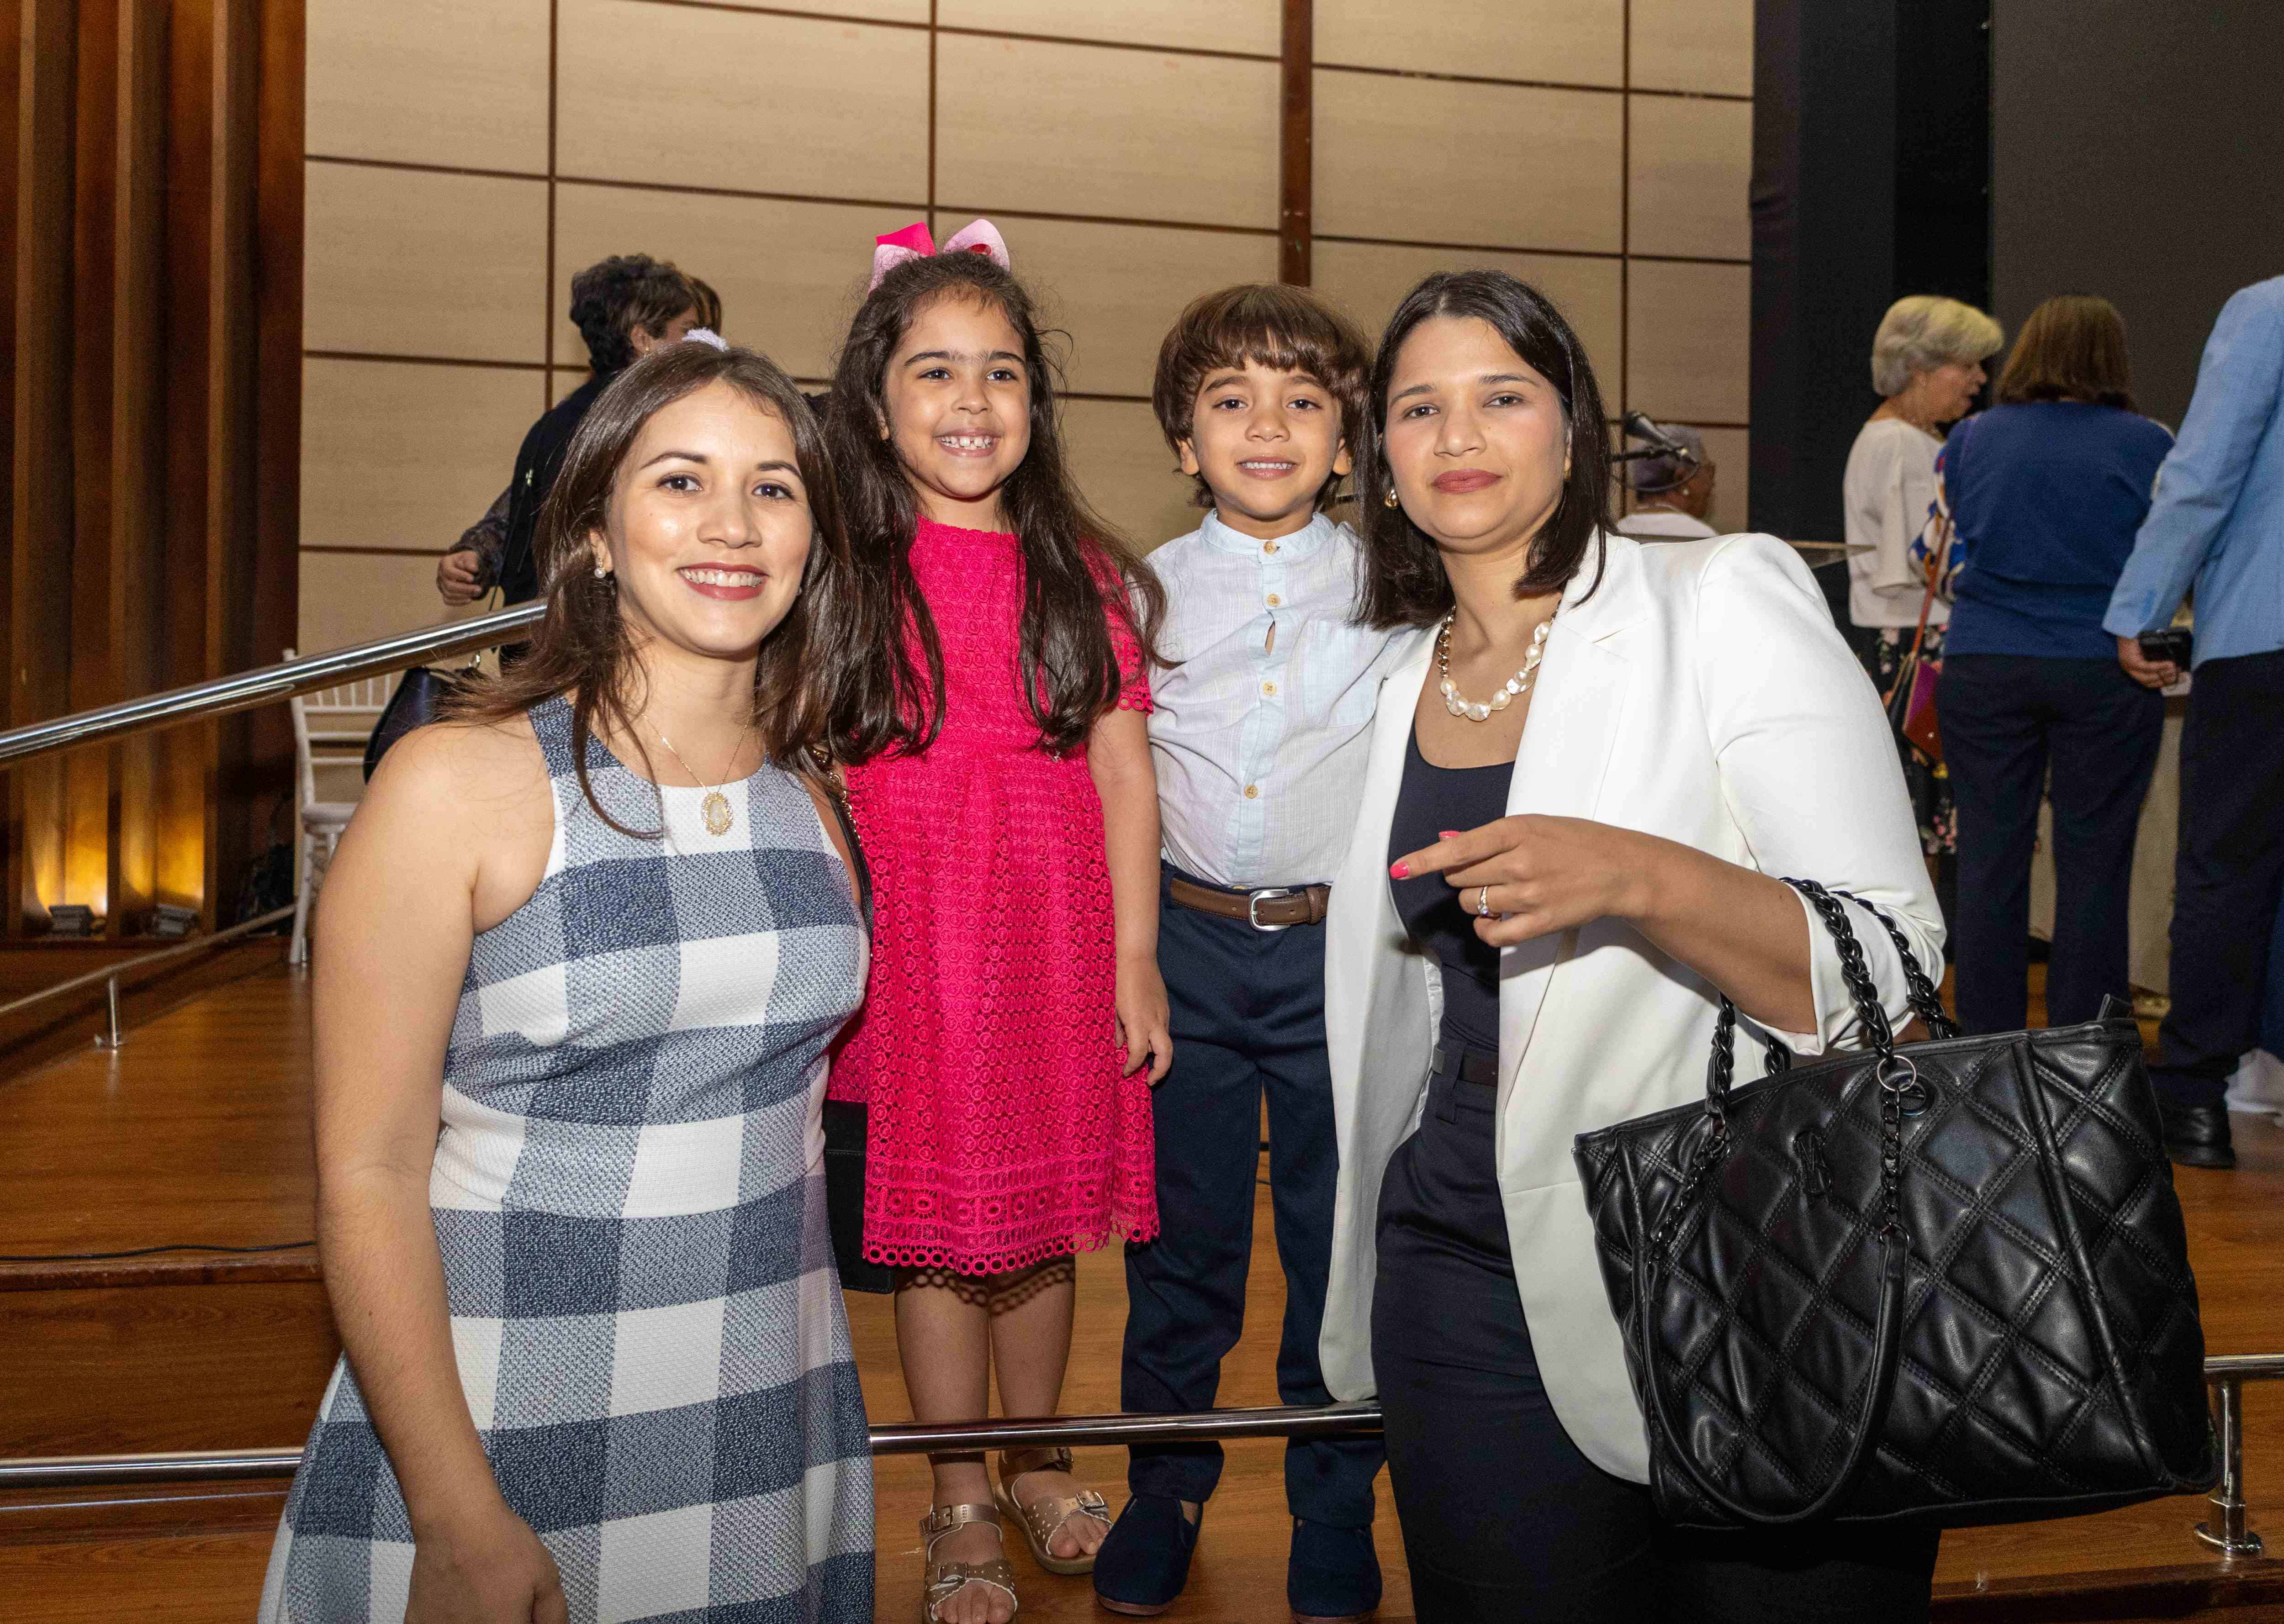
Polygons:
[[[1421,1624],[1916,1624],[1937,1535],[1665,1528],[1555,1418],[1514,1295],[1489,1083],[1448,1060],[1380,1192],[1373,1366]],[[1606,1311],[1597,1304],[1594,1311]],[[1613,1352],[1613,1357],[1617,1357]]]

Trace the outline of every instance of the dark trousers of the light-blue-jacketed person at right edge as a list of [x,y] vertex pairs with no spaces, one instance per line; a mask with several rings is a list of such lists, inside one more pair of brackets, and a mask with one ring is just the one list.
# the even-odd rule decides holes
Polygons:
[[2218,1106],[2261,1046],[2284,893],[2284,651],[2206,660],[2181,726],[2181,850],[2172,882],[2172,1012],[2149,1080]]

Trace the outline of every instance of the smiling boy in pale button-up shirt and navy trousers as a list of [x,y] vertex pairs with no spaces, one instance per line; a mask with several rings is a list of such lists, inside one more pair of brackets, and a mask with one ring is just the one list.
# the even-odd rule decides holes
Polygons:
[[[1158,1238],[1126,1247],[1121,1407],[1211,1409],[1245,1325],[1268,1108],[1286,1313],[1277,1393],[1325,1405],[1318,1364],[1338,1135],[1325,1053],[1325,907],[1364,790],[1380,678],[1414,633],[1357,624],[1357,534],[1332,507],[1364,425],[1370,345],[1302,288],[1208,292],[1158,352],[1151,404],[1211,512],[1151,555],[1165,870],[1158,966],[1174,1069],[1151,1094]],[[1380,1603],[1380,1439],[1286,1446],[1295,1617]],[[1190,1576],[1217,1444],[1137,1446],[1094,1558],[1110,1613],[1167,1610]]]

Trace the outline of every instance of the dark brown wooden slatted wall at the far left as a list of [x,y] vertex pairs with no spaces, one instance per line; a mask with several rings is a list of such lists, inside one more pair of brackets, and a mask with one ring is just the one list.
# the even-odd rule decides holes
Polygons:
[[[265,665],[292,640],[301,0],[0,0],[7,724]],[[85,902],[235,916],[292,836],[283,708],[32,763],[0,934]]]

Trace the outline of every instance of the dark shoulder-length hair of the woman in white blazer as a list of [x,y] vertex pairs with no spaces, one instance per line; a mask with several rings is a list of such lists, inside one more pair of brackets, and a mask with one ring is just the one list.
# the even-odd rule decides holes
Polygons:
[[1489,322],[1562,397],[1562,416],[1569,423],[1569,477],[1562,482],[1555,512],[1530,544],[1530,562],[1514,582],[1514,596],[1528,598],[1569,585],[1587,548],[1594,548],[1594,585],[1601,585],[1597,537],[1610,528],[1610,425],[1578,333],[1546,295],[1507,272],[1437,272],[1396,306],[1389,331],[1380,336],[1380,356],[1373,361],[1373,395],[1364,416],[1368,434],[1357,457],[1357,509],[1364,528],[1364,594],[1357,617],[1368,626],[1430,626],[1453,603],[1450,578],[1434,541],[1412,523],[1412,514],[1386,505],[1396,489],[1386,457],[1396,356],[1405,338],[1437,315]]

